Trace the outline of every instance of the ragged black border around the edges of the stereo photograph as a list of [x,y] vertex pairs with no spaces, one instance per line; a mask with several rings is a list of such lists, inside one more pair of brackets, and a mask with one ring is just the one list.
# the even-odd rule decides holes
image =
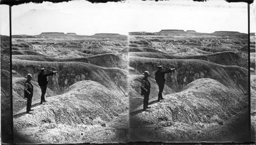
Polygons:
[[[0,0],[0,5],[9,5],[9,26],[10,26],[10,127],[11,127],[11,132],[10,132],[10,137],[9,137],[9,141],[8,142],[2,142],[3,144],[5,143],[10,143],[13,144],[14,142],[14,136],[13,136],[13,102],[12,102],[12,29],[11,29],[11,7],[14,5],[20,5],[20,4],[25,4],[25,3],[42,3],[42,2],[52,2],[52,3],[61,3],[61,2],[69,2],[69,1],[73,1],[73,0]],[[107,3],[107,2],[121,2],[121,1],[125,1],[125,0],[84,0],[84,1],[89,1],[91,3]],[[139,1],[139,0],[138,0]],[[146,1],[146,0],[141,0],[141,1]],[[149,1],[159,1],[159,0],[149,0]],[[163,0],[160,0],[163,1]],[[165,0],[166,1],[166,0]],[[169,0],[167,0],[169,1]],[[171,0],[170,0],[171,1]],[[193,0],[194,2],[207,2],[209,0]],[[213,1],[213,0],[212,0]],[[245,2],[248,5],[248,67],[250,67],[250,4],[253,3],[253,0],[224,0],[228,3],[241,3],[241,2]],[[243,142],[242,144],[254,144],[255,142],[252,142],[254,139],[252,139],[252,133],[251,133],[251,104],[250,104],[250,69],[248,68],[248,132],[249,132],[249,136],[248,142]],[[3,139],[2,139],[3,140]],[[141,141],[137,141],[137,142],[128,142],[127,144],[216,144],[216,143],[220,143],[220,144],[241,144],[241,143],[235,143],[235,142],[176,142],[176,143],[165,143],[165,142],[141,142]],[[79,143],[79,144],[84,144],[84,143]],[[88,143],[86,143],[88,144]],[[91,143],[89,143],[91,144]],[[94,143],[92,143],[94,144]],[[111,143],[111,144],[118,144],[118,143]],[[126,144],[126,143],[121,143],[121,144]]]

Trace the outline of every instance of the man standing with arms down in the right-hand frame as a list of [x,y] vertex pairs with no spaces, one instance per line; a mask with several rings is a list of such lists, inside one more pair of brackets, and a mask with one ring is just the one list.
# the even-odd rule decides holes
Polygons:
[[148,111],[147,108],[150,108],[150,107],[147,107],[147,105],[148,105],[148,98],[150,96],[151,85],[150,85],[150,82],[147,80],[147,78],[150,75],[150,73],[148,71],[144,71],[143,75],[144,75],[144,78],[142,79],[142,82],[141,82],[141,95],[142,96],[144,95],[143,110]]

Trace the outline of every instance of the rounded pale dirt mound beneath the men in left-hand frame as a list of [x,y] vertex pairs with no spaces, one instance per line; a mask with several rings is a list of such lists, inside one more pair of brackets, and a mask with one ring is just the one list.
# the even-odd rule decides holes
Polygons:
[[13,124],[18,134],[31,141],[75,143],[91,138],[99,143],[125,139],[124,133],[108,123],[127,109],[127,103],[119,93],[97,82],[77,82],[68,92],[49,98],[46,105],[35,106],[33,114],[24,114],[25,109],[14,115]]

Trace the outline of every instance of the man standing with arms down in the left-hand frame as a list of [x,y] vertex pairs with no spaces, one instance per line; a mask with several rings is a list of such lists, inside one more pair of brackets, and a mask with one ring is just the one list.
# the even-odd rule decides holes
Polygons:
[[33,97],[33,85],[31,84],[31,80],[32,80],[32,75],[28,74],[26,76],[27,81],[24,84],[24,98],[27,98],[27,113],[28,114],[32,114],[30,111],[33,111],[33,109],[31,109],[31,104],[32,104],[32,97]]

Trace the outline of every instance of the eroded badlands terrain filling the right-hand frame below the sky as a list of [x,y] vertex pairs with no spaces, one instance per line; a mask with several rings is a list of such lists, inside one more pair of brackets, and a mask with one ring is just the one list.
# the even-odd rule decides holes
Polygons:
[[[248,69],[255,81],[255,36],[239,32],[202,34],[162,30],[130,33],[129,66],[152,74],[148,112],[139,98],[142,76],[129,75],[131,140],[245,141],[248,136]],[[253,58],[254,57],[254,58]],[[157,102],[157,66],[176,68],[166,74],[163,102]],[[254,79],[253,79],[254,78]],[[156,88],[156,89],[155,89]],[[251,88],[251,94],[255,87]],[[255,95],[251,95],[255,106]],[[251,109],[255,127],[255,107]],[[254,120],[254,121],[253,121]],[[253,129],[252,129],[253,132]],[[254,136],[255,137],[255,134]]]

